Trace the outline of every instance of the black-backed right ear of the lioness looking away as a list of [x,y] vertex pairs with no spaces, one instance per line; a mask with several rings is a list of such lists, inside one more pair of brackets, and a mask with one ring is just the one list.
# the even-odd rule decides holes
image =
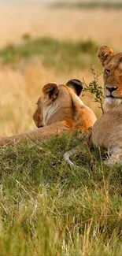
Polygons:
[[66,86],[70,87],[75,91],[76,95],[80,95],[81,91],[83,90],[83,83],[80,80],[72,79],[66,83]]

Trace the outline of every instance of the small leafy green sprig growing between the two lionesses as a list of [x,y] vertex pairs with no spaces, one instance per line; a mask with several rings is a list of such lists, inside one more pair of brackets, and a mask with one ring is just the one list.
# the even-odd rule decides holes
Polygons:
[[96,74],[96,72],[94,71],[94,66],[91,66],[91,72],[92,72],[94,80],[91,81],[91,83],[89,83],[89,85],[87,85],[87,83],[83,79],[83,86],[84,86],[83,91],[88,91],[88,92],[91,93],[91,95],[94,96],[94,102],[99,103],[100,106],[98,106],[98,108],[102,109],[102,113],[104,113],[104,109],[103,109],[103,101],[104,101],[103,90],[102,90],[102,87],[98,85],[98,79],[101,76],[101,73]]

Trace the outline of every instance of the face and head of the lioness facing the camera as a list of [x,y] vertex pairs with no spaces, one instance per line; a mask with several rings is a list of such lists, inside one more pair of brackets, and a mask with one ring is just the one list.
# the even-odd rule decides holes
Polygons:
[[104,67],[105,111],[108,111],[122,103],[122,53],[114,54],[108,46],[101,46],[98,58]]

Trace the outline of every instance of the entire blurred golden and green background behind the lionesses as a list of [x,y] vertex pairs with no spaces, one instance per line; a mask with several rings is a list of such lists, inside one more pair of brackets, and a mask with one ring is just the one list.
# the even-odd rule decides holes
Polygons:
[[[0,23],[0,135],[35,128],[32,114],[46,83],[90,83],[91,65],[102,72],[99,46],[122,51],[117,0],[0,0]],[[82,100],[101,114],[91,95]]]

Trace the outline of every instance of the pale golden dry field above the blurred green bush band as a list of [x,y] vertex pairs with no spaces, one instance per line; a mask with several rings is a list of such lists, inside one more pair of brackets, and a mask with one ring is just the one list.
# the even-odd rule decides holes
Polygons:
[[118,49],[122,40],[122,9],[0,9],[0,46],[20,43],[21,35],[50,35],[57,39],[93,39]]

